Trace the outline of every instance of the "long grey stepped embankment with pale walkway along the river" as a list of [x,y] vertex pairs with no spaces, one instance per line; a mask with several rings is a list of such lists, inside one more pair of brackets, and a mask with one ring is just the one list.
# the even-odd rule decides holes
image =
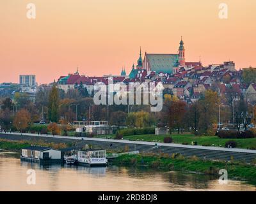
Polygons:
[[74,136],[38,135],[31,133],[22,133],[22,135],[20,133],[0,133],[0,138],[7,140],[42,140],[44,142],[76,143],[76,145],[79,147],[87,144],[104,149],[115,150],[121,150],[125,148],[127,149],[127,147],[129,147],[129,151],[138,150],[139,152],[162,152],[167,154],[179,153],[186,157],[196,156],[202,159],[205,158],[223,161],[230,161],[231,159],[234,159],[235,161],[245,161],[246,163],[252,163],[252,161],[256,159],[256,150],[181,145],[176,143],[141,142]]

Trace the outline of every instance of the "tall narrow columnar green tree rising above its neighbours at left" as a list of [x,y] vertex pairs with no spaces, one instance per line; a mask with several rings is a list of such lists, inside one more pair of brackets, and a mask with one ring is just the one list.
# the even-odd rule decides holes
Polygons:
[[48,103],[49,120],[52,122],[58,122],[59,103],[60,103],[60,99],[58,94],[58,88],[56,87],[56,85],[53,85],[51,92],[49,94],[49,103]]

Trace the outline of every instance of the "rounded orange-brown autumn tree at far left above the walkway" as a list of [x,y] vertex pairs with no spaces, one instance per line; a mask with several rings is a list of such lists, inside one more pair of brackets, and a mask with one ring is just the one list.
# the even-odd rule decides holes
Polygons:
[[23,131],[24,129],[28,128],[30,122],[30,113],[25,109],[21,109],[19,110],[19,112],[17,112],[13,119],[13,126],[17,130]]

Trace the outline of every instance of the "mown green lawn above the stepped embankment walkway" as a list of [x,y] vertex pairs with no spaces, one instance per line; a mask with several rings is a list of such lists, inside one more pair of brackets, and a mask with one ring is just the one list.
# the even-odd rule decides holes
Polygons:
[[[124,140],[139,140],[147,142],[163,142],[166,135],[131,135],[124,136]],[[225,142],[234,140],[237,142],[237,148],[256,149],[256,138],[248,139],[221,139],[218,136],[195,136],[193,134],[175,134],[172,135],[173,143],[191,144],[195,141],[198,145],[225,147]]]

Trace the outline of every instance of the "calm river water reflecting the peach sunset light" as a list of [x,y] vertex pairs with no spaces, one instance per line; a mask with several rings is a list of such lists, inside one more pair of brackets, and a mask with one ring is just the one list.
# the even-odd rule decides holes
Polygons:
[[[35,185],[27,183],[28,170],[35,170]],[[45,166],[20,161],[15,152],[0,152],[0,191],[256,191],[256,187],[237,180],[221,185],[217,178],[196,173]]]

